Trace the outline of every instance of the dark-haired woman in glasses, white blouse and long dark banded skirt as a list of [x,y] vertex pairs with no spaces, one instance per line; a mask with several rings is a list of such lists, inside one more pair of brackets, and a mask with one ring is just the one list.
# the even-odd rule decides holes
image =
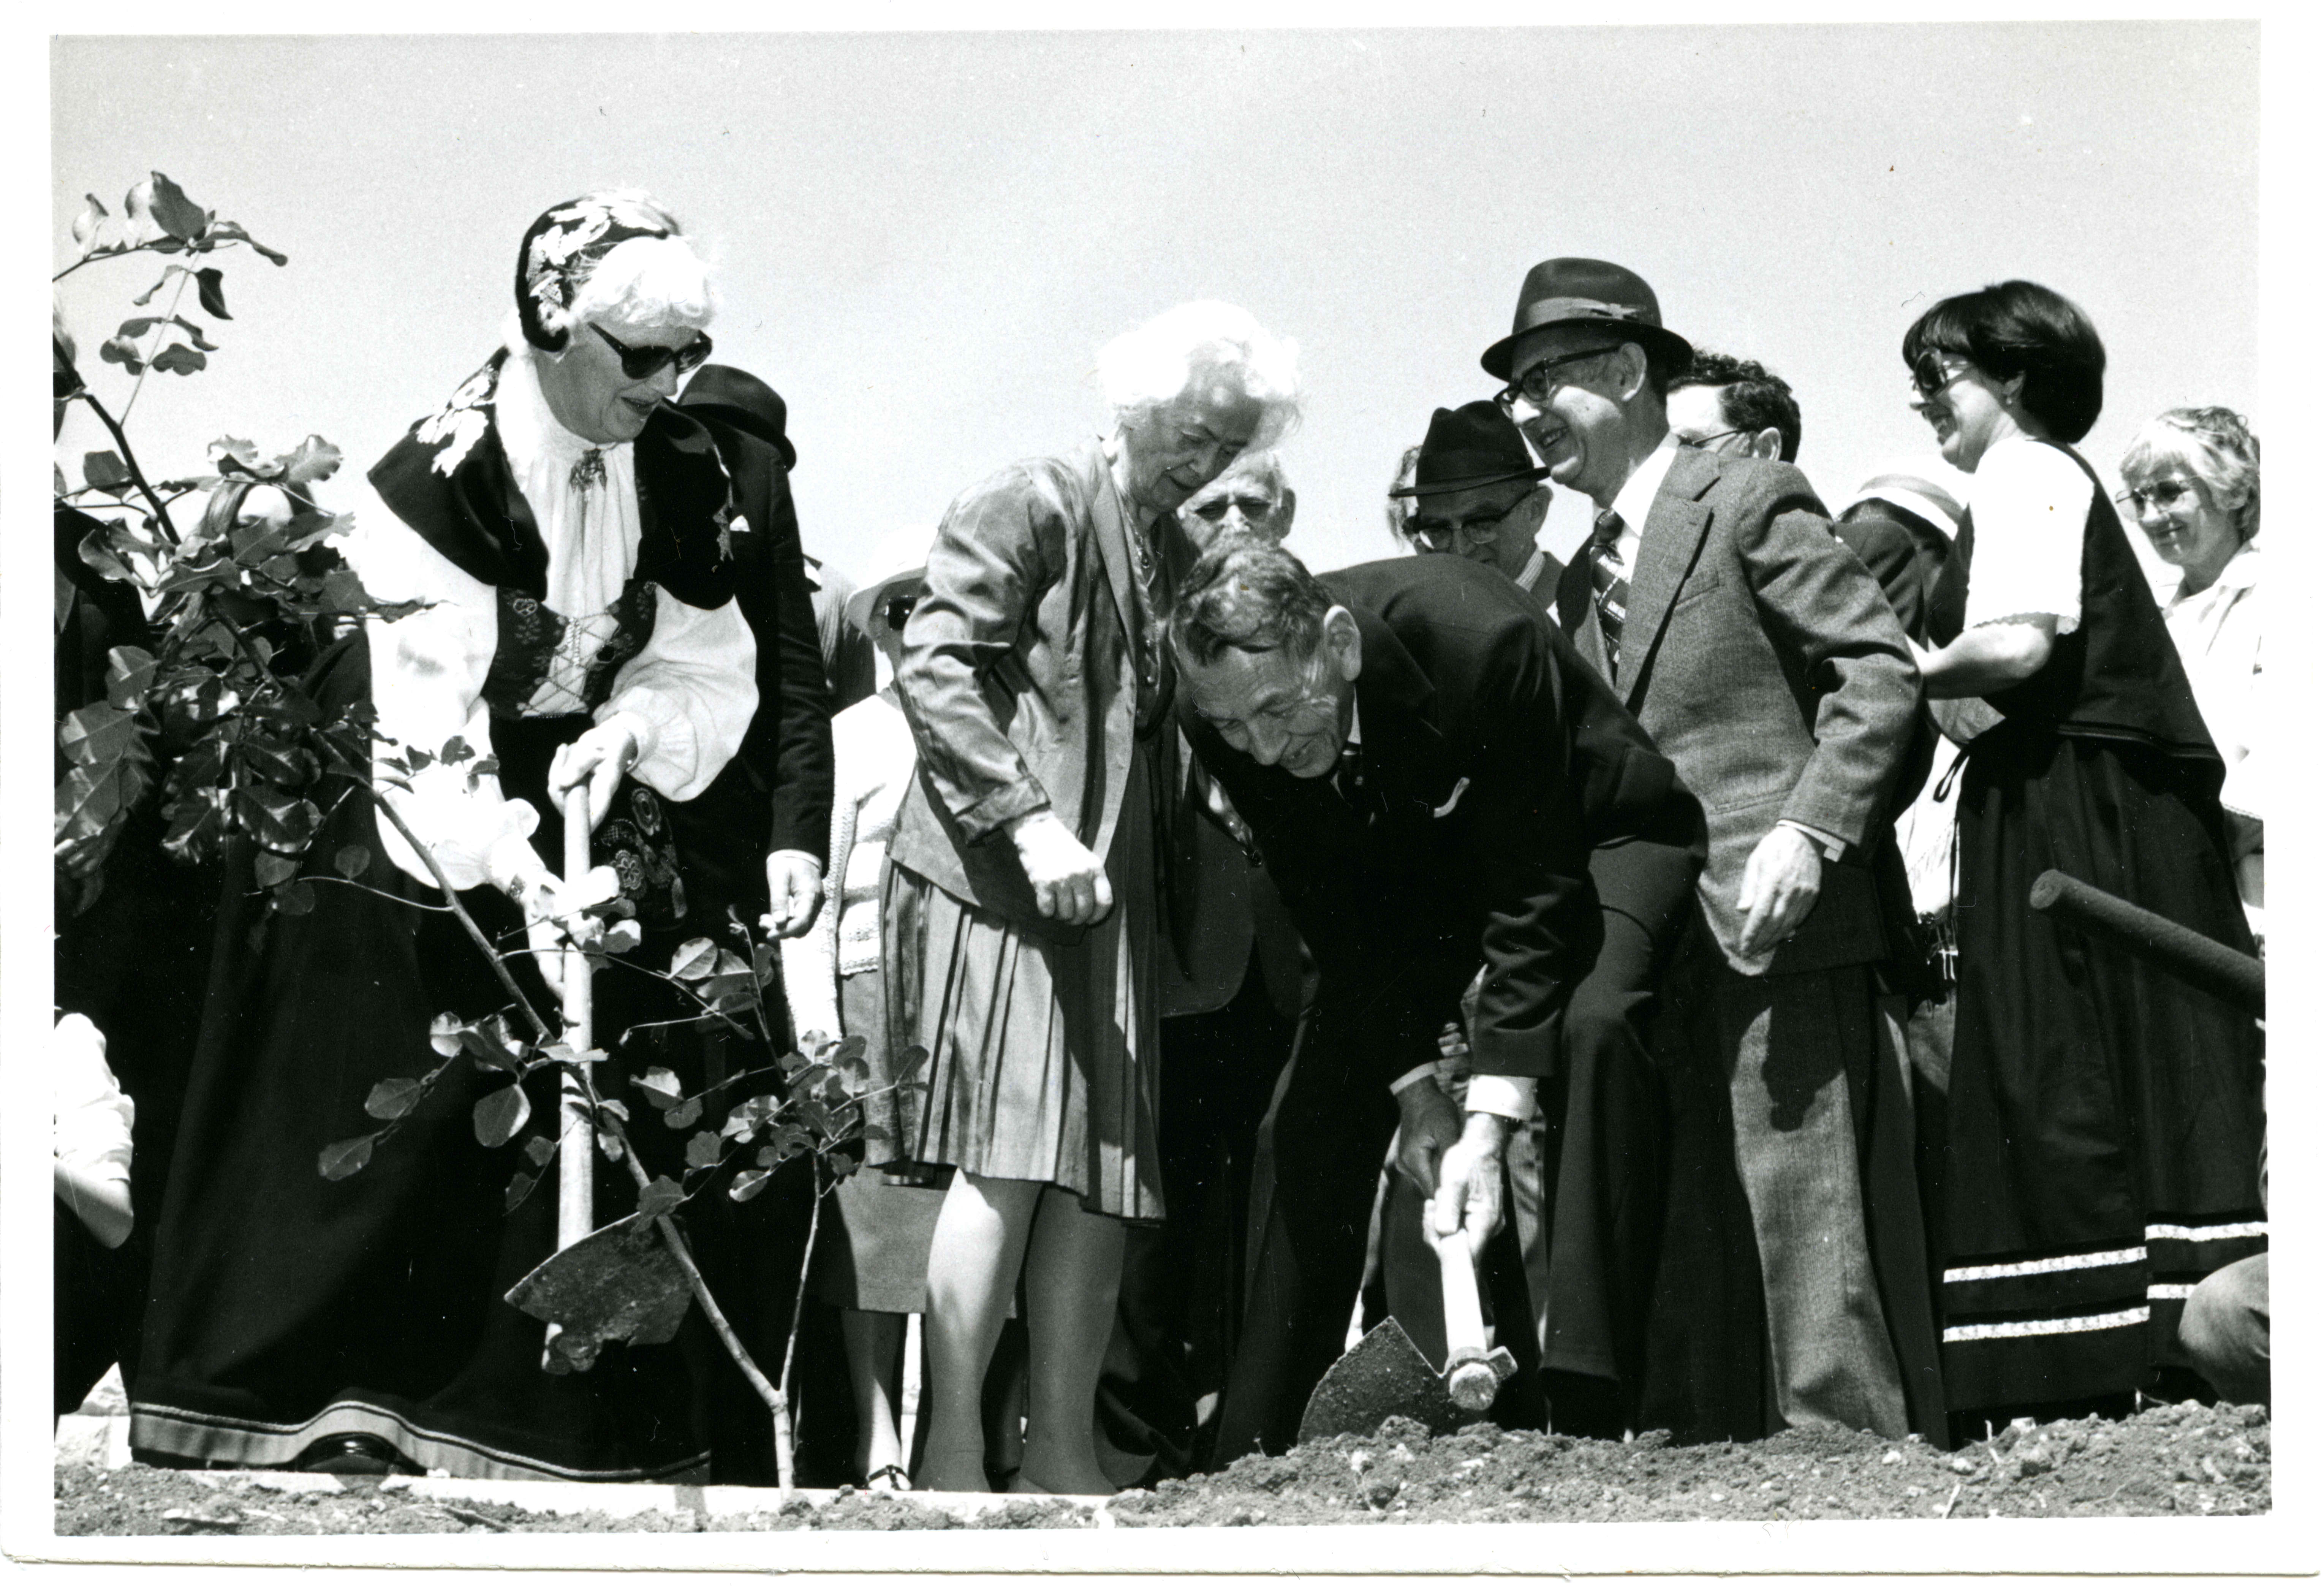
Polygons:
[[[2192,1284],[2266,1242],[2261,1036],[2031,910],[2057,868],[2250,952],[2219,750],[2096,474],[2106,348],[2031,281],[1948,297],[1903,339],[1913,406],[1971,471],[1920,653],[1982,699],[1959,792],[1959,1024],[1943,1198],[1945,1391],[1999,1421],[2171,1391]],[[2161,1375],[2161,1384],[2159,1384]]]

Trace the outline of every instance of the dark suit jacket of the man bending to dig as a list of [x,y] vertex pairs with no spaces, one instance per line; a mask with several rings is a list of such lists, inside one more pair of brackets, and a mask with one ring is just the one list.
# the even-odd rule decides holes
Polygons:
[[1373,813],[1332,778],[1229,750],[1181,706],[1188,741],[1250,822],[1325,1001],[1362,1003],[1350,1026],[1364,1073],[1385,1084],[1432,1059],[1446,1001],[1478,961],[1478,1073],[1552,1073],[1601,936],[1585,790],[1611,824],[1655,827],[1671,769],[1634,722],[1599,745],[1606,759],[1580,750],[1580,659],[1501,574],[1394,557],[1322,585],[1364,641],[1355,699]]

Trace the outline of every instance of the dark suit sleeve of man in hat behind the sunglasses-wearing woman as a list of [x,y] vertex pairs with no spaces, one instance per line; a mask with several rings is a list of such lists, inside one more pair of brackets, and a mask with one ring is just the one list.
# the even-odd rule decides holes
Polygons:
[[774,632],[762,627],[758,634],[753,724],[753,736],[772,729],[767,852],[790,848],[820,859],[832,841],[832,694],[806,592],[799,516],[781,469],[769,469],[767,499],[751,516],[751,529],[767,536],[767,608],[774,613]]

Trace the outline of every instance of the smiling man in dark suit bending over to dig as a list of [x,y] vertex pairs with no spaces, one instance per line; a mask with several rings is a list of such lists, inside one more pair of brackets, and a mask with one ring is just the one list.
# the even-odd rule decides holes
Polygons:
[[1585,755],[1573,648],[1455,557],[1313,578],[1281,548],[1220,541],[1181,590],[1171,646],[1188,741],[1320,971],[1262,1126],[1274,1194],[1220,1405],[1225,1463],[1287,1447],[1339,1354],[1390,1133],[1401,1122],[1399,1168],[1422,1182],[1459,1133],[1434,1084],[1392,1084],[1432,1073],[1480,961],[1476,1073],[1555,1073],[1601,940],[1585,806],[1645,829],[1676,778],[1620,711],[1615,741]]

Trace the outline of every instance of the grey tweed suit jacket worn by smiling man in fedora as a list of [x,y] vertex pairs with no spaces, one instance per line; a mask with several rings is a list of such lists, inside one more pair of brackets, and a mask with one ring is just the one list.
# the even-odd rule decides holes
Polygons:
[[[1920,671],[1896,613],[1787,462],[1678,448],[1641,527],[1620,666],[1590,599],[1590,557],[1557,587],[1557,618],[1701,799],[1710,859],[1697,882],[1727,961],[1796,973],[1889,957],[1868,859],[1913,738]],[[1806,924],[1773,961],[1736,952],[1743,866],[1778,820],[1827,831]]]

